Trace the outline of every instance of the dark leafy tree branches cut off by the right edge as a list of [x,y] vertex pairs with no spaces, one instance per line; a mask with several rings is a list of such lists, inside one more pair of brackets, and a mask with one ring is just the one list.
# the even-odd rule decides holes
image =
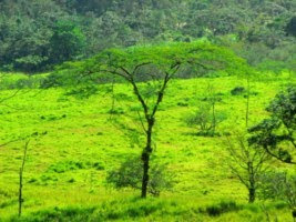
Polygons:
[[249,129],[248,142],[282,162],[296,164],[296,87],[277,94],[266,110],[271,117]]

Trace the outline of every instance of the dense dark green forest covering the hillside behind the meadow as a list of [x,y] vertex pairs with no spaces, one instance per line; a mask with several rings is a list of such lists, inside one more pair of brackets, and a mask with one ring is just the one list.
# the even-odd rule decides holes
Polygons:
[[0,0],[0,12],[2,71],[42,72],[105,48],[196,38],[253,65],[295,69],[295,0]]

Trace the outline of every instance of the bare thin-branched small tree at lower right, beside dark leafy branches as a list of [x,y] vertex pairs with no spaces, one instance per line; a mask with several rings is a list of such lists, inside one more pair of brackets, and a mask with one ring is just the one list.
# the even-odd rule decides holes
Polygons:
[[245,134],[227,138],[226,149],[228,151],[227,164],[232,173],[248,190],[248,202],[256,199],[259,176],[268,169],[268,155],[261,149],[249,145]]

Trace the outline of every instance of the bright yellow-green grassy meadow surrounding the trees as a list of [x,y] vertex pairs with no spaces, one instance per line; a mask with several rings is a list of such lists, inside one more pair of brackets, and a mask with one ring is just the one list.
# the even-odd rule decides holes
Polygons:
[[[251,122],[255,123],[266,114],[264,108],[268,101],[290,81],[283,77],[253,82],[253,92],[257,92],[257,95],[251,99]],[[169,163],[177,183],[173,191],[163,192],[160,200],[146,201],[151,205],[160,205],[155,212],[152,211],[154,213],[142,218],[140,214],[134,220],[161,221],[166,216],[166,220],[180,218],[181,221],[237,221],[238,218],[239,221],[257,221],[263,218],[263,213],[254,213],[256,210],[244,210],[210,219],[196,210],[225,199],[245,203],[247,198],[244,186],[231,176],[225,167],[223,138],[196,137],[195,130],[183,122],[184,115],[196,109],[208,82],[222,93],[218,110],[228,115],[220,130],[228,132],[244,125],[245,99],[243,95],[233,97],[229,92],[234,87],[244,85],[244,80],[217,78],[173,81],[157,114],[155,158]],[[116,85],[115,92],[121,97],[116,101],[116,109],[135,115],[130,111],[137,107],[130,88]],[[1,92],[2,95],[10,93]],[[115,200],[108,208],[111,212],[121,209],[124,218],[129,215],[124,209],[146,203],[133,199],[139,194],[137,191],[114,191],[104,185],[106,171],[119,165],[126,155],[141,152],[141,149],[131,145],[121,130],[110,123],[111,102],[104,92],[88,100],[78,100],[65,97],[61,89],[51,89],[23,91],[1,105],[2,143],[20,135],[39,133],[31,139],[25,165],[24,212],[69,205],[91,208]],[[134,124],[126,121],[130,125]],[[0,148],[0,219],[17,212],[22,147],[23,142],[14,142]],[[285,209],[278,210],[277,214],[279,221],[289,220]],[[112,219],[109,215],[106,218]]]

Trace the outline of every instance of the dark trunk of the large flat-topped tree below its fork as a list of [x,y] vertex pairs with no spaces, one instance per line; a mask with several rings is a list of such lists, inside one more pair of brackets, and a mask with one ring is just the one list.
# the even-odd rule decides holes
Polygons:
[[152,153],[152,129],[154,125],[154,119],[147,120],[147,132],[146,132],[146,147],[142,153],[143,161],[143,179],[142,179],[142,198],[147,196],[147,184],[149,184],[149,169],[150,169],[150,155]]

